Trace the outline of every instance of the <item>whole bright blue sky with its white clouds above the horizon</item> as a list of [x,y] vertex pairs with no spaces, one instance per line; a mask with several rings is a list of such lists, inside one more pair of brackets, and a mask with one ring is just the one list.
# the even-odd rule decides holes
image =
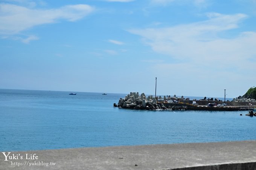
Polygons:
[[227,97],[256,79],[256,0],[2,0],[0,88]]

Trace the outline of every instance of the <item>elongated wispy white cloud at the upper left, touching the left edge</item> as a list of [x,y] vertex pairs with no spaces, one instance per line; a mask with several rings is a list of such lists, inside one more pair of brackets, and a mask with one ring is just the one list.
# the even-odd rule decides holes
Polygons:
[[0,34],[12,35],[41,24],[64,19],[76,21],[93,12],[89,5],[67,5],[58,9],[30,9],[23,6],[0,4]]

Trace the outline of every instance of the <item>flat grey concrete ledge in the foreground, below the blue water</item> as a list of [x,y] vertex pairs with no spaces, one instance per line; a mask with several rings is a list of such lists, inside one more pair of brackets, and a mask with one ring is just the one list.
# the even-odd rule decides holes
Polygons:
[[[1,151],[11,152],[11,151]],[[8,153],[5,153],[6,155]],[[101,170],[255,170],[256,141],[157,144],[145,146],[94,147],[59,150],[15,151],[0,169],[101,169]],[[38,156],[38,159],[26,159]],[[10,156],[9,155],[9,156]],[[23,159],[21,159],[23,156]],[[14,165],[14,162],[20,165]],[[30,163],[36,162],[35,165]],[[40,162],[42,165],[40,165]],[[26,165],[21,165],[26,164]],[[46,166],[46,163],[49,163]],[[56,163],[50,165],[50,163]],[[12,165],[13,164],[13,165]]]

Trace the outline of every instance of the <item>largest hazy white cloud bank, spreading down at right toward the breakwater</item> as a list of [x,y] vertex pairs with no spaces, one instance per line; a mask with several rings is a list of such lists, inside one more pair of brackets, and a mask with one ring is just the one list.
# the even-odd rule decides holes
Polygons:
[[[247,15],[207,15],[206,21],[129,32],[141,36],[142,42],[156,53],[168,55],[175,61],[152,65],[153,73],[162,79],[171,76],[173,82],[193,82],[198,92],[202,85],[212,90],[229,86],[234,94],[239,87],[250,86],[244,82],[251,83],[256,72],[256,61],[252,60],[256,56],[256,32],[234,31]],[[230,30],[232,35],[228,37]]]

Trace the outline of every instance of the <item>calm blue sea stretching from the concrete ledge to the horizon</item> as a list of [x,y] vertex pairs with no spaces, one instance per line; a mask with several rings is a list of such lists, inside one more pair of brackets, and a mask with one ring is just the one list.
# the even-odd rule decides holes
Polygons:
[[76,93],[0,89],[0,151],[256,139],[248,111],[125,110],[113,107],[125,94]]

